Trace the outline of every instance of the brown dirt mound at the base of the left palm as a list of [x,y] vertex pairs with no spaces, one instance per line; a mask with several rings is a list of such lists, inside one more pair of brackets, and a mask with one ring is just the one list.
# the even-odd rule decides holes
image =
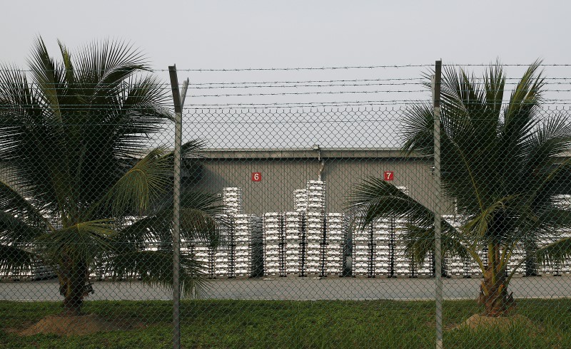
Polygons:
[[21,330],[19,335],[36,335],[39,333],[55,333],[56,335],[89,335],[112,330],[133,330],[143,328],[143,323],[136,321],[108,321],[95,314],[81,316],[51,315],[42,318],[34,325]]

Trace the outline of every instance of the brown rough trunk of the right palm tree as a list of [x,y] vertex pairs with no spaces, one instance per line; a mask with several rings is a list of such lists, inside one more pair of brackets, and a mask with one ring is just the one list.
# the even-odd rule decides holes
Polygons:
[[500,264],[500,246],[491,247],[488,250],[491,263],[484,271],[477,301],[484,306],[486,316],[505,316],[515,308],[515,301],[513,293],[507,293],[507,273],[505,265]]

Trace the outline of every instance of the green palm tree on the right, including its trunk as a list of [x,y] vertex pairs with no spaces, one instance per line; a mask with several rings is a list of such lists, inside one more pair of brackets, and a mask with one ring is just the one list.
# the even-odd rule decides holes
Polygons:
[[[539,68],[539,62],[527,68],[507,103],[499,63],[487,68],[483,78],[462,69],[443,71],[442,183],[462,218],[459,227],[442,220],[443,251],[469,254],[480,267],[484,279],[478,301],[488,316],[513,308],[507,288],[520,266],[532,259],[560,262],[571,254],[571,239],[560,236],[571,227],[571,212],[556,202],[561,180],[571,169],[570,161],[560,161],[571,145],[571,126],[565,115],[540,115],[544,80]],[[405,112],[403,150],[433,155],[433,116],[428,104]],[[381,179],[366,180],[353,194],[351,207],[365,217],[363,224],[391,214],[410,220],[403,229],[410,259],[422,263],[434,250],[430,207]],[[555,242],[537,246],[548,239]],[[528,254],[508,271],[516,249]]]

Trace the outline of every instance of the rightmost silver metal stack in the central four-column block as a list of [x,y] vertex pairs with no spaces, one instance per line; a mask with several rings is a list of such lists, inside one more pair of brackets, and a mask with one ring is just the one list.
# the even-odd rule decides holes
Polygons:
[[343,274],[347,223],[342,213],[328,213],[325,221],[325,274]]

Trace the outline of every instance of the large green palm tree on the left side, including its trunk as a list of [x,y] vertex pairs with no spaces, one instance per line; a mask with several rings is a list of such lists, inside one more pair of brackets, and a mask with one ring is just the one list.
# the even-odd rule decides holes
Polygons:
[[[81,311],[89,275],[137,276],[170,286],[173,154],[148,147],[171,120],[168,95],[141,52],[93,43],[61,61],[36,41],[29,71],[0,68],[0,272],[34,265],[59,276],[65,312]],[[183,146],[197,157],[202,143]],[[181,237],[221,240],[210,194],[181,198]],[[152,249],[158,244],[160,249]],[[201,268],[181,255],[181,283],[200,291]]]

